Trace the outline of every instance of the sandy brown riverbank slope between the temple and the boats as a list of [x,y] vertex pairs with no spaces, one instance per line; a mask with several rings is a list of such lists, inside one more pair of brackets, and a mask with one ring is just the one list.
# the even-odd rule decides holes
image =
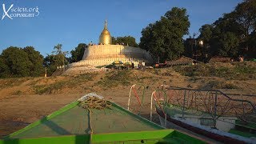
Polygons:
[[[126,107],[133,84],[146,86],[142,115],[148,118],[150,94],[163,83],[192,89],[218,89],[233,94],[256,94],[256,63],[214,63],[146,71],[121,70],[48,78],[0,79],[0,138],[91,92]],[[138,94],[142,95],[140,87]],[[134,97],[131,110],[138,112],[138,103]]]

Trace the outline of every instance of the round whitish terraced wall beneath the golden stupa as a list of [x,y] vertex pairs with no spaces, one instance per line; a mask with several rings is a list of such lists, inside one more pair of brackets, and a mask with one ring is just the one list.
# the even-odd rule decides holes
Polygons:
[[106,66],[114,61],[138,62],[145,61],[146,64],[152,64],[153,59],[146,50],[132,46],[122,45],[97,45],[86,48],[82,61],[74,62],[69,67],[74,66]]

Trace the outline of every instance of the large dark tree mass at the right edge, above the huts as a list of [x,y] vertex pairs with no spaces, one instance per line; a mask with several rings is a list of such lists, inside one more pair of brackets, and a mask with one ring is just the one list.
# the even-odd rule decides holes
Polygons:
[[222,18],[208,25],[208,28],[209,26],[210,29],[207,29],[206,25],[202,26],[198,39],[204,41],[211,56],[244,55],[246,58],[256,58],[256,1],[244,0],[238,3],[232,12],[223,14]]

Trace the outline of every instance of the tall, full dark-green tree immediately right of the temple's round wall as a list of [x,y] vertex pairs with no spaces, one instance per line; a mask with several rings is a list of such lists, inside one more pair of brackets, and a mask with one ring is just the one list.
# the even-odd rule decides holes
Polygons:
[[149,50],[161,62],[178,58],[184,51],[183,35],[190,26],[186,9],[174,7],[159,21],[142,30],[140,47]]

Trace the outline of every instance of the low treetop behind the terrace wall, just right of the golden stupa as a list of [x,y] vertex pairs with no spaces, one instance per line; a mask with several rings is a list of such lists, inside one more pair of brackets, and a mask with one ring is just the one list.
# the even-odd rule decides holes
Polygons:
[[124,45],[129,45],[129,46],[133,46],[133,47],[138,47],[138,43],[136,42],[134,37],[129,36],[124,36],[124,37],[117,37],[114,38],[112,37],[112,43],[113,44],[124,44]]

